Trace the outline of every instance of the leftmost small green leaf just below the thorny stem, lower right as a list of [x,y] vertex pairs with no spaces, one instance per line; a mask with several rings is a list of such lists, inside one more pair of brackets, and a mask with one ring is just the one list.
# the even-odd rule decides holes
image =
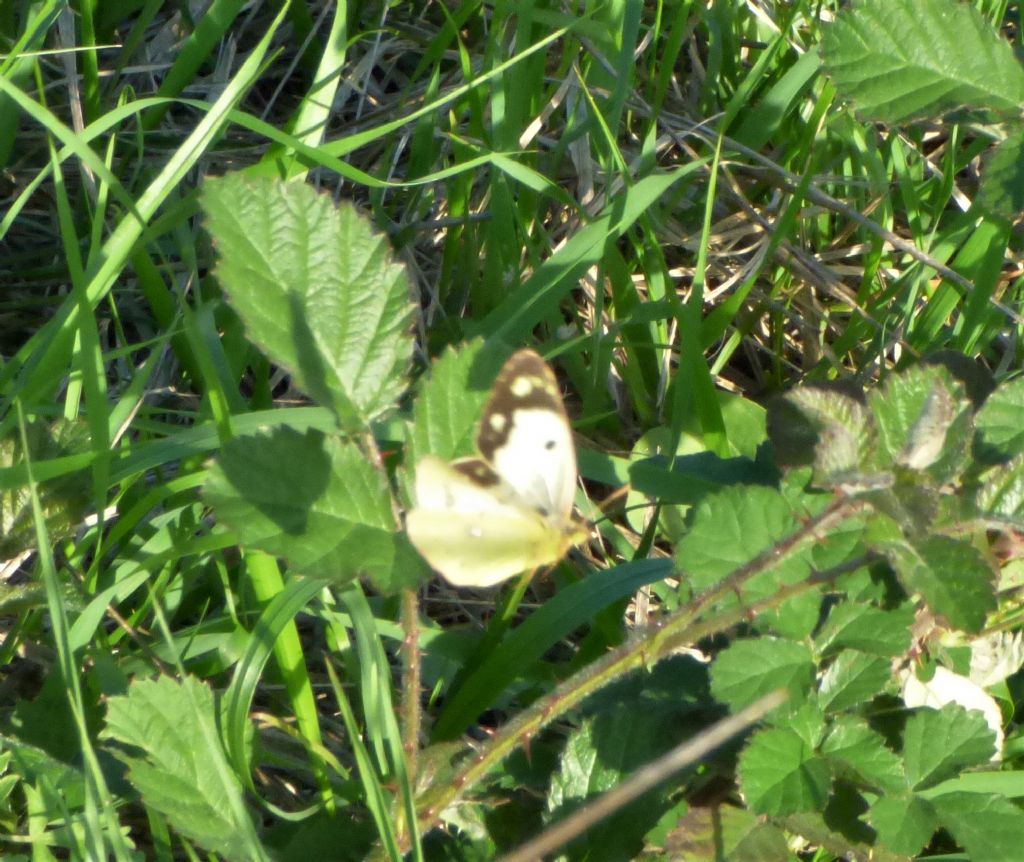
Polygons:
[[748,706],[777,688],[800,702],[814,682],[814,661],[803,644],[778,638],[736,641],[711,669],[712,694],[730,709]]

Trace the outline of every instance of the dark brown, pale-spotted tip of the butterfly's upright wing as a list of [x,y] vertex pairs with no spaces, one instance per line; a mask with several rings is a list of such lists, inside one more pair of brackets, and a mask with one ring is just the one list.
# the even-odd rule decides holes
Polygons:
[[[532,350],[513,353],[495,380],[476,437],[476,446],[485,461],[493,462],[495,452],[508,442],[516,412],[523,410],[549,411],[565,417],[558,381],[548,363]],[[557,443],[546,440],[543,445],[550,450]]]

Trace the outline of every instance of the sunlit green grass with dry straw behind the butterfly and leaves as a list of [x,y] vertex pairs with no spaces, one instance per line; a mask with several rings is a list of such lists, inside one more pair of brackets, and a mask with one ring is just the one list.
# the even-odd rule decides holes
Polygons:
[[[419,854],[414,795],[452,774],[445,749],[419,748],[462,733],[452,703],[500,726],[679,603],[675,580],[639,581],[668,565],[686,511],[649,519],[649,500],[616,498],[631,460],[752,457],[759,405],[799,382],[869,387],[944,349],[997,377],[1019,367],[1019,231],[973,204],[993,136],[858,120],[818,54],[840,5],[0,11],[0,830],[20,835],[3,853],[182,852],[96,736],[108,698],[181,666],[226,692],[220,730],[265,802],[268,847],[298,847],[303,827],[276,815],[309,810],[311,847]],[[413,377],[473,339],[537,346],[558,369],[608,518],[601,547],[515,613],[584,596],[586,613],[535,622],[543,655],[516,663],[507,599],[297,587],[211,514],[201,488],[226,441],[335,429],[213,275],[199,192],[228,171],[309,182],[389,239],[417,308]],[[414,392],[366,435],[399,500]],[[588,571],[624,563],[636,589],[588,589]],[[275,624],[257,628],[268,608]],[[541,828],[557,746],[536,751],[488,788],[521,822],[508,805],[453,815],[452,853]],[[430,842],[444,838],[427,856]]]

